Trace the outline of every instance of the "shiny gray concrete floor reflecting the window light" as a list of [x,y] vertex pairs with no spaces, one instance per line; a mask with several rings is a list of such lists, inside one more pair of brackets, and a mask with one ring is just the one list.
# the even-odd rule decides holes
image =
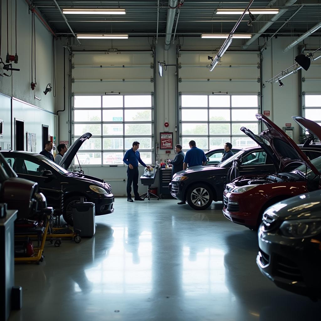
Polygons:
[[46,245],[40,265],[15,265],[23,308],[9,320],[316,320],[320,303],[277,288],[256,267],[257,236],[173,199],[96,217],[80,244]]

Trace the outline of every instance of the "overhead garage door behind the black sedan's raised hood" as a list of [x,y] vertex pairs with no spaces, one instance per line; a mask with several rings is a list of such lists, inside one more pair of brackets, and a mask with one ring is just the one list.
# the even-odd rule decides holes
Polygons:
[[135,140],[142,159],[152,163],[152,52],[77,52],[72,63],[73,139],[92,134],[77,154],[80,163],[123,165]]

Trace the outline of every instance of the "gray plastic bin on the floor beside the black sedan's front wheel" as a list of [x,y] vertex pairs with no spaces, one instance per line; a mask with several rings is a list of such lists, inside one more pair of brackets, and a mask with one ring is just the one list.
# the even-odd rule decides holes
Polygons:
[[95,204],[80,202],[73,204],[74,230],[80,230],[81,237],[92,237],[95,234]]

